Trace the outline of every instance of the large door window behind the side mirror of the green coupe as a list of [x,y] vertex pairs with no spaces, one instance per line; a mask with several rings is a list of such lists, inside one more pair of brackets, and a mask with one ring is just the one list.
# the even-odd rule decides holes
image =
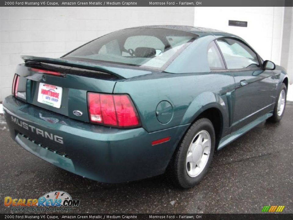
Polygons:
[[217,39],[228,69],[259,67],[257,55],[244,43],[230,38]]

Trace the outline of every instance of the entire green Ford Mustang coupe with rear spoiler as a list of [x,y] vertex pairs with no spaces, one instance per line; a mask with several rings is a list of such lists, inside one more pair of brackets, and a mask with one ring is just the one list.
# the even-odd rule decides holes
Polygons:
[[128,28],[61,58],[23,56],[3,101],[11,137],[101,182],[167,173],[189,188],[213,153],[284,114],[288,77],[238,36],[187,26]]

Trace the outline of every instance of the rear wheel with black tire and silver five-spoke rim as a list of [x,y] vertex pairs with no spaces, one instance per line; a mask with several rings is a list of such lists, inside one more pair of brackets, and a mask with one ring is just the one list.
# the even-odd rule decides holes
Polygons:
[[197,185],[207,173],[214,151],[213,124],[207,118],[198,119],[187,130],[175,150],[167,169],[168,179],[180,188],[187,189]]

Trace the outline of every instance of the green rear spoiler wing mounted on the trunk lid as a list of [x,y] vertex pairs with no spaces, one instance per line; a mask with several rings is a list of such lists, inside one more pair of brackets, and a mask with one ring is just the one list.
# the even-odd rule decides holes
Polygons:
[[70,66],[70,67],[77,67],[77,68],[83,68],[83,69],[88,69],[88,70],[96,70],[96,71],[101,71],[105,72],[111,75],[114,75],[118,78],[123,78],[126,79],[128,77],[124,77],[122,75],[119,75],[115,73],[113,70],[117,68],[112,68],[112,67],[106,67],[106,66],[101,66],[101,65],[95,65],[92,63],[86,63],[86,62],[81,62],[81,61],[71,61],[71,60],[65,60],[65,59],[60,59],[60,58],[48,58],[48,57],[34,57],[34,56],[20,56],[24,62],[28,61],[33,61],[33,62],[42,62],[42,63],[48,63],[48,64],[59,64],[63,66]]

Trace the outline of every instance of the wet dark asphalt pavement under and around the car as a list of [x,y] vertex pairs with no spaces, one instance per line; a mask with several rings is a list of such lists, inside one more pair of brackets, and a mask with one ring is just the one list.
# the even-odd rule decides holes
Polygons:
[[280,123],[263,122],[216,152],[201,183],[183,190],[164,175],[104,184],[64,171],[17,145],[0,115],[0,213],[13,213],[5,196],[39,198],[55,190],[80,200],[69,213],[260,213],[265,205],[293,213],[292,131],[288,102]]

